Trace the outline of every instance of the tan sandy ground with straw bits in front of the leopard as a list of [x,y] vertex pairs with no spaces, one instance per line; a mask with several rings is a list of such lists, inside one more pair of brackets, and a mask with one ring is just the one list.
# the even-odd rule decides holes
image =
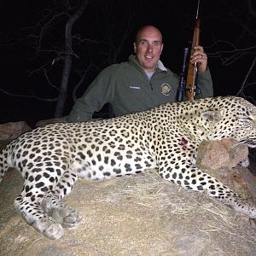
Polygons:
[[79,180],[64,201],[83,221],[56,241],[15,212],[21,188],[20,174],[7,172],[0,187],[1,256],[256,255],[253,222],[154,170],[104,182]]

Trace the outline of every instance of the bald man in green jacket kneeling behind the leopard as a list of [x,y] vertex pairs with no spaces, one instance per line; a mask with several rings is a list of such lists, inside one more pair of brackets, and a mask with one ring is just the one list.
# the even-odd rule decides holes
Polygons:
[[[175,102],[179,78],[160,61],[164,44],[162,35],[154,26],[143,26],[134,42],[129,61],[106,67],[79,98],[67,121],[81,122],[92,119],[105,103],[110,103],[115,116],[153,108],[162,103]],[[207,55],[196,46],[192,63],[198,64],[197,98],[213,95],[212,78],[207,68]]]

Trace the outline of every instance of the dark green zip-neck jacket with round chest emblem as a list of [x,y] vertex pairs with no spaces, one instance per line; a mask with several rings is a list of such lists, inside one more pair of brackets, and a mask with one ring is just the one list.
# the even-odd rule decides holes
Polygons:
[[[179,77],[166,69],[161,61],[148,79],[134,55],[129,61],[113,64],[102,70],[90,84],[84,95],[73,105],[67,117],[69,122],[81,122],[92,119],[92,114],[110,103],[115,116],[134,113],[153,108],[162,103],[175,102]],[[213,96],[210,71],[198,74],[198,87],[203,98]]]

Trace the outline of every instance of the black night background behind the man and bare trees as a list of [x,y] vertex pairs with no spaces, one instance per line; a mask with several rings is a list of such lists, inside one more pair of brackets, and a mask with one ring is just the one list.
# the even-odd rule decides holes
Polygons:
[[[32,70],[41,67],[45,61],[49,61],[49,56],[41,55],[38,59],[35,58],[35,47],[28,43],[27,37],[32,35],[32,26],[37,24],[38,20],[41,20],[44,16],[44,10],[50,9],[58,3],[61,5],[63,2],[1,0],[0,88],[8,91],[9,94],[0,91],[0,123],[25,120],[29,125],[34,125],[40,119],[54,117],[55,102],[27,97],[32,94],[47,98],[56,96],[56,91],[49,86],[43,73],[31,73]],[[75,2],[78,1],[70,1],[70,3]],[[105,9],[106,3],[110,3],[111,11]],[[96,77],[96,74],[103,67],[113,62],[107,61],[108,41],[104,38],[104,32],[108,32],[109,22],[113,22],[116,30],[113,36],[110,35],[110,37],[118,46],[119,38],[125,30],[122,22],[126,16],[131,17],[131,33],[125,40],[116,61],[126,61],[132,53],[132,43],[137,29],[140,26],[152,24],[159,27],[164,36],[164,50],[161,60],[166,67],[179,73],[183,58],[183,47],[192,38],[196,4],[197,2],[194,0],[89,1],[83,16],[74,24],[73,32],[79,34],[82,38],[96,39],[100,43],[94,46],[88,46],[87,44],[74,48],[76,54],[80,57],[75,64],[77,69],[79,67],[81,69],[85,68],[90,62],[96,63],[97,67],[92,68],[87,74],[76,96],[81,96],[90,81]],[[253,4],[254,11],[256,11],[255,3]],[[236,95],[248,69],[252,65],[253,58],[256,55],[256,35],[248,31],[253,29],[253,32],[256,32],[256,22],[252,25],[253,19],[249,20],[247,17],[247,1],[201,0],[201,44],[208,54],[208,65],[212,73],[215,96]],[[47,49],[63,44],[65,21],[67,19],[64,18],[60,22],[56,22],[55,28],[57,30],[52,28],[51,32],[48,32],[47,38],[44,39],[44,45],[47,45]],[[38,33],[38,31],[34,32]],[[236,44],[237,49],[249,47],[254,47],[254,49],[247,50],[247,54],[241,55],[234,63],[225,66],[224,59],[222,59],[223,55],[218,55],[216,52],[224,49],[230,51],[232,48],[227,47],[227,44],[213,44],[216,38]],[[99,49],[104,49],[104,54],[101,54]],[[50,73],[55,84],[60,84],[61,81],[61,63],[59,65],[59,69]],[[253,68],[248,78],[248,82],[252,85],[247,86],[245,90],[245,96],[249,96],[251,102],[256,100],[256,85],[253,84],[256,76],[255,67]],[[77,80],[78,74],[72,73],[64,111],[65,115],[70,112],[73,106],[72,92]]]

